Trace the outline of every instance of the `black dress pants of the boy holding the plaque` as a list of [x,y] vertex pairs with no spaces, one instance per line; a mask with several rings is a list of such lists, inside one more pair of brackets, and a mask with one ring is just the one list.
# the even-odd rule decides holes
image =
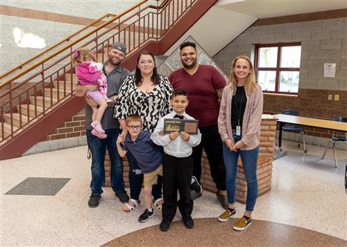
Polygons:
[[[162,219],[172,221],[177,206],[183,220],[189,219],[193,211],[193,200],[190,199],[190,181],[192,179],[193,158],[177,158],[164,154],[162,158],[162,189],[164,204],[162,205]],[[177,190],[180,199],[177,201]]]

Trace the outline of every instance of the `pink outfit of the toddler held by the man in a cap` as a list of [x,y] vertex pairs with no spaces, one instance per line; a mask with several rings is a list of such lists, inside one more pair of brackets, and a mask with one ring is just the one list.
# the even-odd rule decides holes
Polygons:
[[107,95],[107,79],[105,75],[98,71],[94,62],[91,63],[78,63],[76,66],[76,75],[78,82],[81,85],[98,85],[99,91],[88,91],[87,94],[90,95],[95,102],[101,100],[102,98],[106,100],[106,102],[110,102],[111,100]]

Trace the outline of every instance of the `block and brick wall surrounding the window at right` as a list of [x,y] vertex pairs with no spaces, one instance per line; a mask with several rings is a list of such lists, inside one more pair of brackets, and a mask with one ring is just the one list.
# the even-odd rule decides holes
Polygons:
[[[228,74],[230,62],[237,55],[244,54],[254,59],[255,44],[301,42],[298,97],[264,95],[264,113],[280,113],[285,109],[294,109],[299,112],[299,116],[312,118],[330,119],[332,116],[346,116],[347,18],[346,11],[336,14],[340,16],[331,18],[330,15],[330,19],[301,22],[296,22],[300,19],[298,17],[283,17],[282,19],[288,23],[262,26],[255,23],[217,53],[214,61]],[[307,15],[310,14],[305,14],[305,17]],[[281,22],[280,19],[276,17],[278,23]],[[267,22],[271,23],[269,20]],[[337,64],[335,77],[323,77],[323,64],[326,62]],[[332,100],[328,100],[329,94],[332,95]],[[339,101],[334,100],[335,94],[339,95]],[[332,136],[331,132],[324,129],[305,127],[305,132],[312,136]]]

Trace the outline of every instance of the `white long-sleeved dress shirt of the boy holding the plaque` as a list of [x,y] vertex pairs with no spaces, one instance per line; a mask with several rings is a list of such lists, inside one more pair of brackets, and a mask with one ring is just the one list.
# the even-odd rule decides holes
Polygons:
[[[157,127],[155,127],[154,129],[153,134],[151,135],[151,139],[156,145],[163,146],[164,152],[166,154],[178,158],[183,158],[192,154],[192,147],[199,145],[199,143],[201,142],[201,133],[198,130],[198,134],[190,134],[189,140],[187,142],[183,140],[181,136],[177,136],[175,140],[170,140],[169,134],[159,134],[160,131],[164,130],[164,118],[174,118],[176,114],[177,113],[175,111],[172,111],[171,113],[167,114],[167,116],[162,117],[159,120]],[[183,116],[183,119],[194,120],[194,118],[192,118],[185,112],[178,115]]]

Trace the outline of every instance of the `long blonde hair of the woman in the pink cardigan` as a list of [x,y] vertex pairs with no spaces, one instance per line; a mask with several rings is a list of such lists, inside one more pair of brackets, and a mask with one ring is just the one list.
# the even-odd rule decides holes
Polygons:
[[244,85],[244,91],[246,92],[246,95],[249,96],[249,95],[251,95],[252,90],[257,88],[257,83],[255,81],[254,67],[253,67],[252,61],[249,57],[247,57],[246,55],[239,55],[239,56],[235,57],[234,60],[232,60],[231,70],[230,70],[230,82],[232,83],[232,87],[234,88],[234,95],[235,95],[236,89],[237,89],[237,77],[235,75],[233,68],[235,68],[235,64],[236,64],[237,60],[239,60],[239,59],[246,60],[249,64],[250,68],[251,68],[251,73],[248,75],[248,77],[246,79],[246,84]]

